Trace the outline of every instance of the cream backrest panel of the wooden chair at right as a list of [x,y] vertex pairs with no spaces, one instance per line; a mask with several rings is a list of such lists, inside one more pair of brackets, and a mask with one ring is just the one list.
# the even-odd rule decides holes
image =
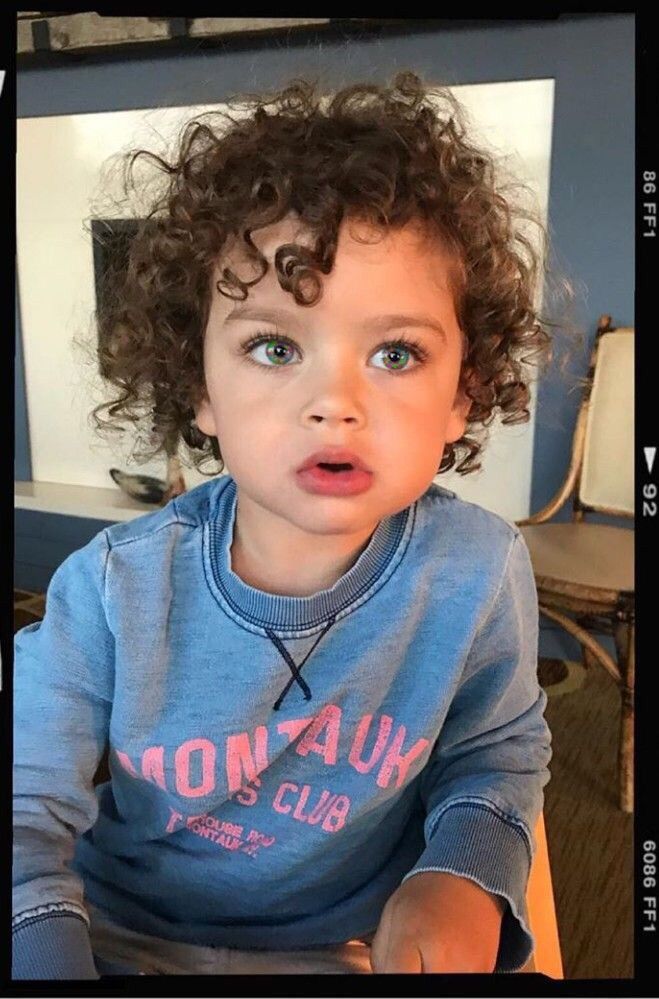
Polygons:
[[634,515],[634,330],[602,333],[595,349],[579,502]]

